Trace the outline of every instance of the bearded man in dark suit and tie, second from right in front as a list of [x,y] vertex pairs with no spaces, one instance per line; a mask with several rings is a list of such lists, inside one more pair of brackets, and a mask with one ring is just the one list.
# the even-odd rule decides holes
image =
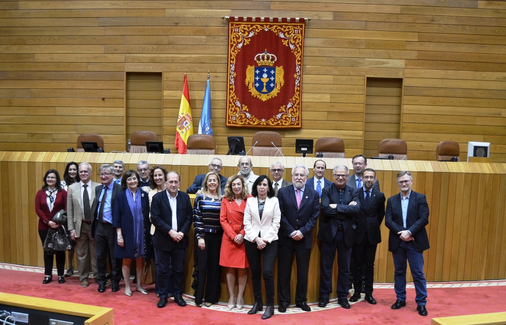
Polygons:
[[385,195],[374,188],[376,182],[376,171],[374,169],[364,169],[362,179],[364,186],[358,190],[360,213],[356,217],[357,228],[355,229],[355,245],[353,245],[353,255],[355,257],[353,287],[355,293],[350,301],[355,302],[360,299],[362,274],[364,274],[365,268],[365,300],[375,305],[376,300],[372,297],[374,258],[376,257],[377,244],[381,243],[379,226],[385,217]]

